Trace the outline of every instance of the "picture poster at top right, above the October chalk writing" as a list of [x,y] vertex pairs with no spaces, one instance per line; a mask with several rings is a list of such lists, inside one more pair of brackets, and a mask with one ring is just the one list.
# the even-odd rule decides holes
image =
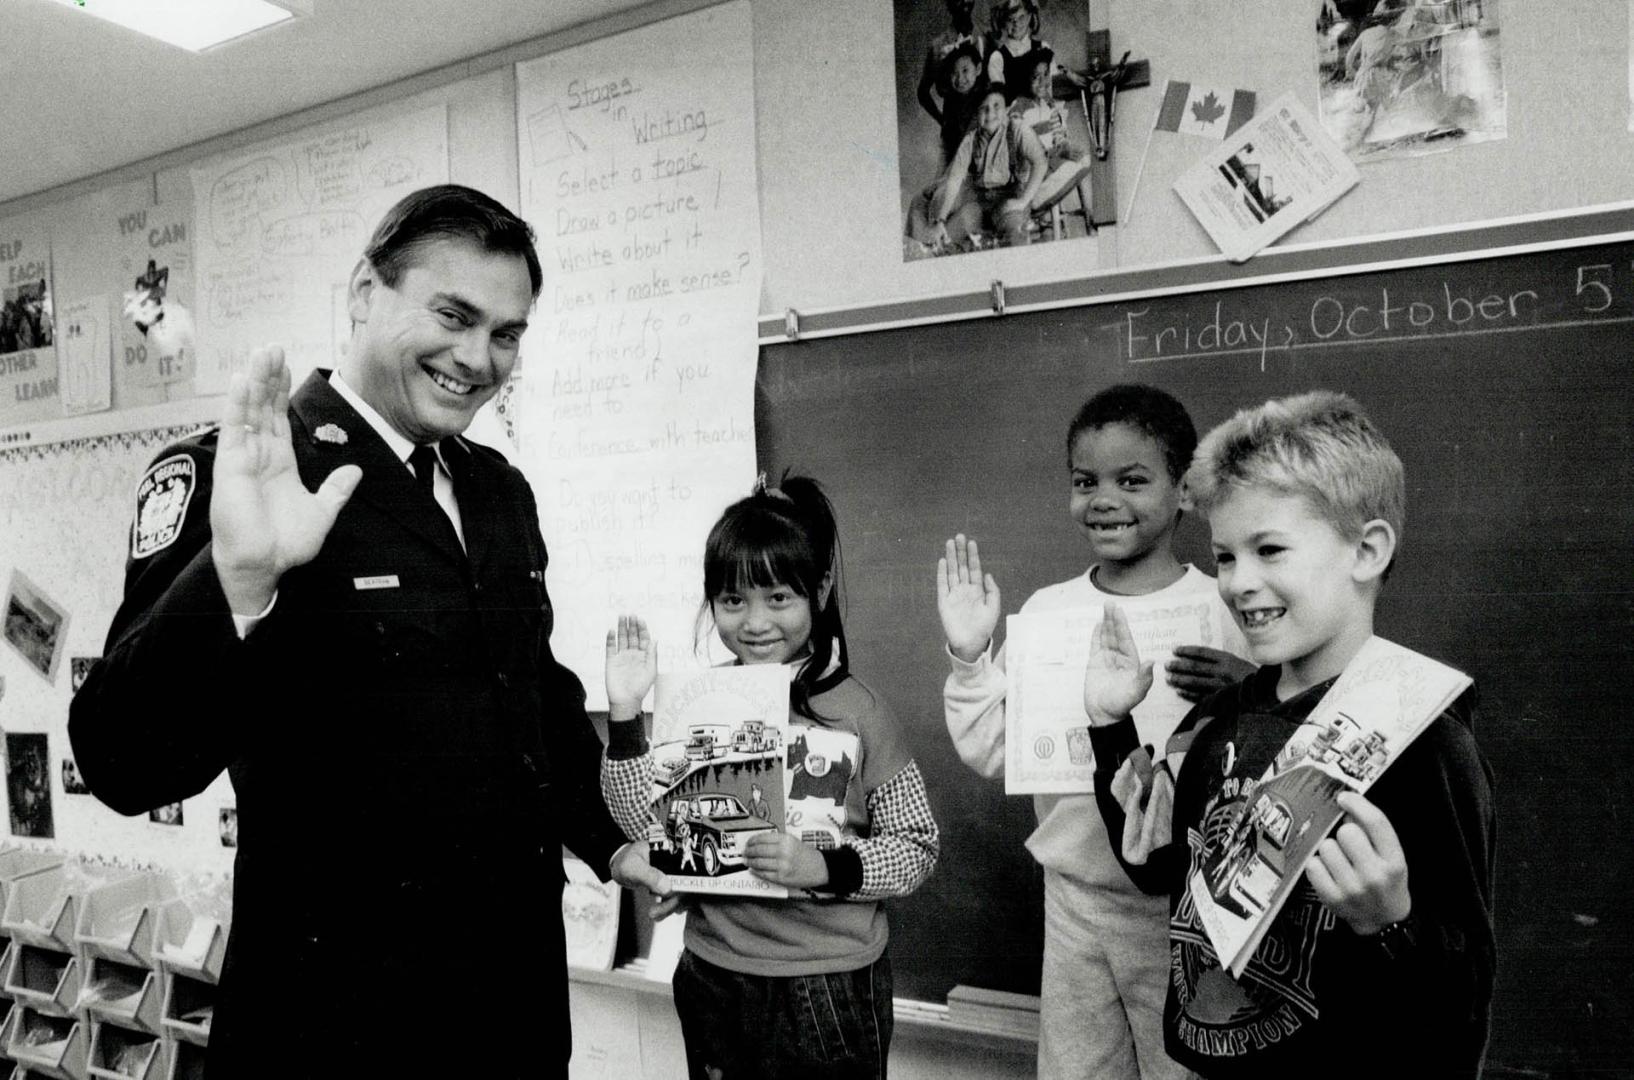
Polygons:
[[1322,126],[1351,160],[1503,139],[1500,0],[1322,0]]

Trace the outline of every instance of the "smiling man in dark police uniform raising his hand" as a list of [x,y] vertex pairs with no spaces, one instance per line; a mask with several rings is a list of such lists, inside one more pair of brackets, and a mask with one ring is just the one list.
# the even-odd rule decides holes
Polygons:
[[[551,654],[533,493],[461,435],[539,286],[526,222],[415,191],[351,274],[340,369],[291,397],[257,351],[221,426],[137,485],[69,732],[123,814],[232,778],[211,1077],[565,1077],[560,845],[667,890],[608,817]],[[449,1002],[469,1031],[425,1028]]]

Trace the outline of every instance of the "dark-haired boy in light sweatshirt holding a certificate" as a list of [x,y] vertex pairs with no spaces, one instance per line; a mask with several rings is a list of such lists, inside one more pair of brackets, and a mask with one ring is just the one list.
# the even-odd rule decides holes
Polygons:
[[[1018,632],[1018,619],[1047,623],[1038,637],[1069,642],[1080,624],[1080,640],[1088,640],[1087,626],[1111,598],[1145,605],[1147,616],[1193,613],[1190,629],[1173,634],[1176,647],[1165,649],[1172,657],[1167,686],[1137,711],[1144,742],[1159,750],[1185,716],[1185,699],[1198,701],[1252,670],[1226,652],[1243,654],[1247,645],[1214,580],[1181,564],[1173,551],[1180,477],[1196,444],[1185,407],[1155,387],[1113,386],[1083,404],[1067,428],[1067,507],[1092,564],[1072,580],[1033,593],[1021,614],[1011,616],[997,655],[989,649],[1002,609],[998,585],[982,572],[975,541],[949,539],[938,565],[938,611],[953,665],[943,690],[948,734],[964,763],[982,776],[1005,773],[1007,789],[1039,792],[1038,828],[1026,841],[1044,868],[1039,1080],[1190,1077],[1163,1052],[1167,905],[1129,884],[1090,794],[1095,771],[1078,704],[1087,649],[1075,649],[1078,667],[1065,694],[1031,698],[1034,704],[1042,696],[1064,698],[1072,727],[1029,729],[1029,707],[1020,698],[1031,693],[1034,668],[1018,657],[1028,652],[1018,649],[1028,637]],[[1181,627],[1186,621],[1170,623]],[[1018,778],[1026,768],[1060,770],[1062,760],[1069,779],[1082,773],[1078,786],[1016,783],[1028,779]]]

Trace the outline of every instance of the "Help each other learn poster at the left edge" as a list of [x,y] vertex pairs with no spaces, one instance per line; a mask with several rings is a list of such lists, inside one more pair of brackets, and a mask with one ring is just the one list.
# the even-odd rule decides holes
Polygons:
[[0,426],[62,415],[51,299],[46,222],[0,222]]

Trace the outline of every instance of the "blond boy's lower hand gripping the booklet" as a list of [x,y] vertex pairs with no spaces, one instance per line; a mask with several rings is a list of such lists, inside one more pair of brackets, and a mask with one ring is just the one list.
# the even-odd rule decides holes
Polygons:
[[1306,879],[1322,904],[1366,938],[1413,910],[1407,856],[1384,810],[1355,791],[1342,791],[1338,806],[1350,820],[1322,841],[1306,864]]

